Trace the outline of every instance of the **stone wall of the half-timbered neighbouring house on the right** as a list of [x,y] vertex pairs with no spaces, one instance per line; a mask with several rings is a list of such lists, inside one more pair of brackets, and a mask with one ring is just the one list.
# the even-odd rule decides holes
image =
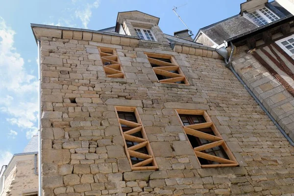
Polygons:
[[[263,50],[257,49],[254,52],[268,64],[271,72],[269,68],[261,65],[251,53],[246,52],[248,50],[246,46],[238,47],[237,54],[234,55],[233,67],[273,118],[294,140],[294,97],[291,95],[294,82],[289,76],[293,74],[290,69],[294,65],[287,61],[278,50],[271,48],[282,58],[282,62],[286,62],[285,67],[288,67],[288,70],[283,71],[284,69],[281,70],[281,66],[277,67],[274,64],[273,59],[279,61],[270,51],[269,46],[263,47]],[[270,59],[265,52],[268,52],[268,55],[272,56],[273,59]],[[272,72],[275,72],[275,74],[273,75]],[[277,79],[280,79],[280,81]],[[287,85],[289,85],[288,90],[285,89]]]

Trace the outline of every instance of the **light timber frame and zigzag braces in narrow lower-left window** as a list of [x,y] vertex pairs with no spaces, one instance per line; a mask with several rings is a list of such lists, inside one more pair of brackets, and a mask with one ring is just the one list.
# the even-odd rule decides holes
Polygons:
[[[120,124],[120,130],[121,130],[121,133],[122,133],[122,136],[123,136],[125,152],[126,152],[128,160],[129,160],[129,163],[131,165],[132,171],[157,170],[158,166],[157,166],[157,163],[155,161],[155,157],[153,155],[152,149],[150,147],[150,143],[149,143],[148,138],[147,138],[146,131],[144,129],[144,126],[143,126],[143,124],[141,122],[139,113],[136,110],[136,108],[116,106],[115,110],[116,110],[116,113],[117,113],[117,111],[134,112],[135,116],[137,118],[137,121],[138,121],[138,123],[134,123],[134,122],[127,121],[127,120],[124,120],[124,119],[120,119],[118,117],[118,115],[117,115],[118,120],[119,120],[119,124]],[[123,132],[121,124],[126,125],[128,127],[132,127],[132,129]],[[137,133],[139,131],[141,132],[143,138],[136,137],[136,136],[132,135],[132,134]],[[138,144],[135,145],[135,146],[132,146],[132,147],[127,147],[126,141],[131,141],[131,142],[135,142],[135,143],[138,143]],[[136,151],[137,149],[140,149],[142,147],[147,148],[148,154]],[[141,161],[141,162],[136,163],[136,164],[133,165],[132,162],[131,162],[130,157],[137,157],[137,158],[140,158],[140,159],[144,159],[144,161]],[[152,166],[147,166],[149,164],[152,164]]]

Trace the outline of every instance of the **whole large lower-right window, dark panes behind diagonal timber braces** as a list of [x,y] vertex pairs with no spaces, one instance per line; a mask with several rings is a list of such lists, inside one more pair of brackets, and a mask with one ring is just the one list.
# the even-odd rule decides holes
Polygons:
[[201,168],[238,166],[234,155],[205,111],[176,111]]

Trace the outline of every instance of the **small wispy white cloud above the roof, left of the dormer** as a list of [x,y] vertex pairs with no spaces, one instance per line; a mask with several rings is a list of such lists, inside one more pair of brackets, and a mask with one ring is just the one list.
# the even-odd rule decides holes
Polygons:
[[100,0],[96,0],[92,4],[87,3],[87,5],[82,10],[80,9],[75,10],[75,17],[81,20],[84,28],[88,28],[88,24],[92,16],[92,9],[98,8],[99,4],[100,4]]

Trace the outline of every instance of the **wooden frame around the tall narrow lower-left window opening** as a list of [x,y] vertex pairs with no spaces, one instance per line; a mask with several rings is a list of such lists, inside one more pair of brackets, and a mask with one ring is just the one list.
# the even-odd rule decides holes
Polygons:
[[[126,106],[114,106],[114,109],[115,109],[115,113],[116,113],[116,116],[117,116],[117,119],[118,119],[118,122],[119,122],[120,131],[121,131],[121,134],[122,134],[122,137],[123,137],[124,151],[125,151],[125,154],[126,154],[127,159],[129,160],[129,164],[130,164],[131,170],[132,171],[155,171],[155,170],[158,170],[157,162],[155,160],[153,151],[152,151],[151,146],[150,146],[150,142],[149,142],[148,137],[147,137],[147,133],[145,131],[144,125],[143,125],[143,123],[141,121],[140,114],[139,114],[137,108],[136,107],[126,107]],[[118,112],[133,112],[135,114],[137,123],[133,123],[133,122],[130,122],[130,121],[127,121],[127,120],[120,119]],[[152,161],[150,162],[150,163],[152,163],[152,166],[144,166],[144,165],[141,166],[141,164],[144,164],[144,163],[142,163],[144,161],[141,161],[140,162],[141,164],[139,164],[139,163],[134,164],[134,165],[132,164],[132,161],[131,161],[131,158],[130,158],[130,154],[131,153],[132,154],[136,153],[135,150],[136,149],[139,149],[139,148],[134,148],[135,146],[127,147],[125,136],[126,135],[129,135],[130,136],[131,133],[130,134],[126,134],[125,132],[123,132],[123,128],[122,128],[122,125],[121,125],[122,123],[132,123],[132,124],[134,124],[135,127],[133,129],[131,129],[133,131],[137,127],[140,127],[140,126],[142,127],[141,129],[139,129],[139,131],[141,131],[141,134],[142,134],[143,138],[141,139],[141,138],[138,138],[138,137],[135,137],[135,136],[132,136],[132,138],[134,138],[135,140],[137,140],[137,143],[139,143],[138,146],[136,145],[137,147],[139,147],[139,148],[146,147],[147,148],[147,151],[148,151],[147,156],[149,158],[145,159],[145,161],[146,160],[150,160],[152,158]],[[137,166],[135,166],[135,165],[137,165]]]

